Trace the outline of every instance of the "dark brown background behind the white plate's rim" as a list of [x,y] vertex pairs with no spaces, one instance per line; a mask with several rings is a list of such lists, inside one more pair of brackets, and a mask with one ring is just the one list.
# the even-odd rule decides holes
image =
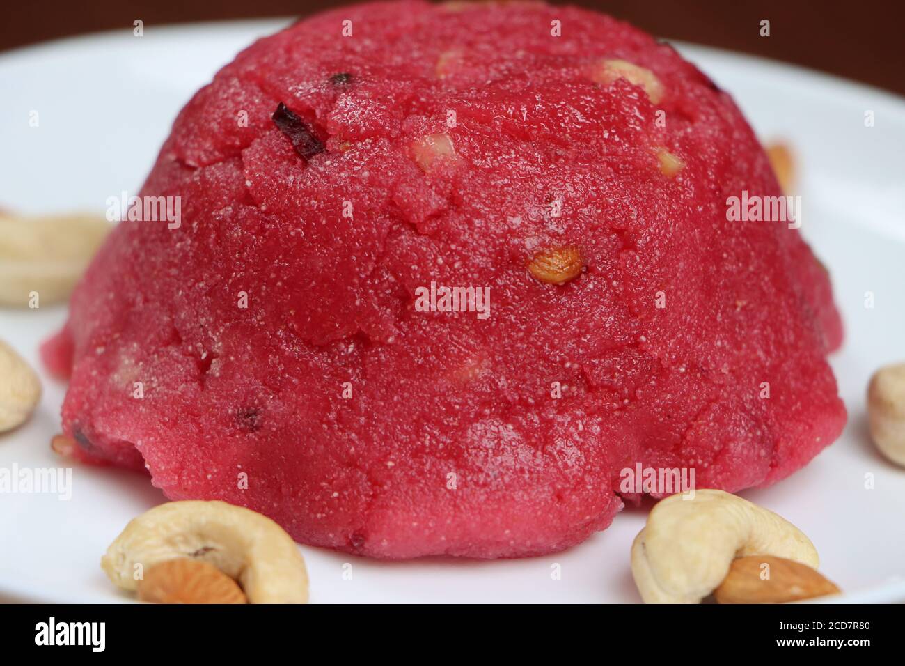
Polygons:
[[[100,30],[153,24],[311,14],[348,5],[329,0],[71,0],[8,2],[0,50]],[[706,43],[798,63],[905,94],[903,0],[576,0],[658,36]],[[771,35],[758,34],[761,19]]]

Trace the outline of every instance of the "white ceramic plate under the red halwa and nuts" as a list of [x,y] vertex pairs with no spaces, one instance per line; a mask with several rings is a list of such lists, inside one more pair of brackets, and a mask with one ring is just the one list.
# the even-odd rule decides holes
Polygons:
[[[252,39],[287,23],[149,25],[141,38],[129,27],[0,56],[0,207],[100,213],[121,190],[137,194],[192,92]],[[905,469],[872,448],[863,399],[877,366],[905,359],[905,101],[778,63],[681,51],[732,92],[761,136],[795,146],[803,232],[831,268],[846,324],[832,360],[850,412],[843,437],[792,478],[744,495],[813,539],[843,599],[905,601]],[[864,126],[865,111],[874,127]],[[865,292],[875,307],[865,308]],[[37,367],[38,343],[64,317],[63,307],[0,310],[0,337]],[[0,437],[0,468],[61,465],[49,441],[65,387],[46,376],[44,386],[33,419]],[[0,599],[126,600],[101,573],[100,555],[130,518],[161,501],[148,478],[89,467],[72,469],[69,500],[0,494]],[[380,563],[302,551],[314,602],[637,602],[628,553],[644,518],[626,509],[585,544],[523,560]]]

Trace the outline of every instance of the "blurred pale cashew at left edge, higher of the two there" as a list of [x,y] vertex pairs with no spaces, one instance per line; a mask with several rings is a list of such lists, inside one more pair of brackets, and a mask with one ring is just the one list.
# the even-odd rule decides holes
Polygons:
[[65,301],[112,226],[85,215],[0,215],[0,305]]

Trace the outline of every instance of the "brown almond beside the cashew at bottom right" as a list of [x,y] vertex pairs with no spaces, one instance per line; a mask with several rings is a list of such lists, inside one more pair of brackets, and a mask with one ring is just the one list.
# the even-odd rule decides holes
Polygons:
[[719,603],[786,603],[839,594],[839,588],[800,562],[748,555],[733,560],[713,594]]

